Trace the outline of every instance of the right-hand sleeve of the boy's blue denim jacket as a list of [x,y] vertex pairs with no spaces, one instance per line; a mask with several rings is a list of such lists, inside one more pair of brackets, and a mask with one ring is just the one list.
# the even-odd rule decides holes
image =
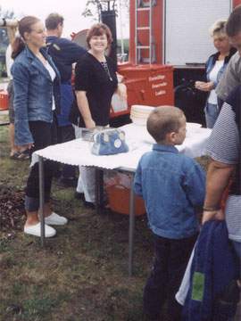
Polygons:
[[205,197],[205,173],[204,169],[197,163],[187,169],[185,179],[185,190],[189,202],[195,206],[202,206]]

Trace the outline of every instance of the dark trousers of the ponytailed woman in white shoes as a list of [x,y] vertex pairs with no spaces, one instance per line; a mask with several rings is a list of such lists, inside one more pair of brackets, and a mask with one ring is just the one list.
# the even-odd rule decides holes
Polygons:
[[[51,144],[57,143],[56,135],[56,119],[52,123],[46,121],[29,121],[29,129],[34,139],[34,146],[30,153],[46,148]],[[44,174],[44,190],[45,201],[48,202],[50,198],[50,191],[52,185],[52,178],[54,176],[54,162],[45,161]],[[39,207],[39,173],[38,162],[30,168],[29,177],[26,186],[25,209],[29,211],[36,211]]]

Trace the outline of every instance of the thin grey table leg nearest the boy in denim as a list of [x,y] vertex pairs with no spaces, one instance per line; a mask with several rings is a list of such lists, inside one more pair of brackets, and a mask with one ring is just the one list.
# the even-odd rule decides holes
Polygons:
[[135,227],[135,193],[133,189],[134,175],[131,175],[131,187],[129,191],[129,276],[132,276],[133,268],[133,241]]

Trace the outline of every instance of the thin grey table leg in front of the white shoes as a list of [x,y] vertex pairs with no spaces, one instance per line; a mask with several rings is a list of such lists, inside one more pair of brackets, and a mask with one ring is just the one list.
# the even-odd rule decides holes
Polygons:
[[39,216],[41,226],[41,246],[45,245],[46,228],[44,218],[44,204],[45,204],[45,189],[44,189],[44,159],[38,156],[38,170],[39,170]]

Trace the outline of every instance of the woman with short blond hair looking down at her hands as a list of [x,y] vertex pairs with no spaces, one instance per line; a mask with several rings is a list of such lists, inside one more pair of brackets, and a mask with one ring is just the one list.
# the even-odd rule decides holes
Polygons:
[[229,59],[236,53],[236,49],[229,44],[229,38],[225,32],[225,24],[226,21],[216,21],[212,25],[211,36],[213,45],[218,52],[212,54],[206,62],[207,81],[195,82],[197,89],[209,93],[204,109],[207,128],[213,128],[220,113],[215,87],[218,85]]

